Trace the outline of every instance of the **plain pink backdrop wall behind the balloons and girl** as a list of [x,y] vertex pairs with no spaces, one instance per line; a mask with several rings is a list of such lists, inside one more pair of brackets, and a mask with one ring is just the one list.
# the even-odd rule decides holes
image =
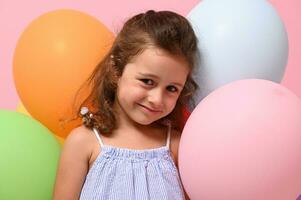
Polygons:
[[[12,59],[17,40],[26,26],[38,16],[56,9],[75,9],[90,14],[116,33],[124,20],[148,9],[172,10],[186,16],[200,0],[0,0],[0,109],[15,110],[19,97],[13,75]],[[301,1],[270,0],[282,17],[289,36],[289,60],[283,85],[301,97]]]

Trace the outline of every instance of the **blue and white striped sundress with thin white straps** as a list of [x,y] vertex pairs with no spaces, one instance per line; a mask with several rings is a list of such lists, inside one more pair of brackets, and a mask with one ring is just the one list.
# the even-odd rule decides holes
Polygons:
[[93,129],[101,153],[89,170],[80,200],[183,200],[184,193],[172,160],[168,126],[166,145],[134,150],[103,144]]

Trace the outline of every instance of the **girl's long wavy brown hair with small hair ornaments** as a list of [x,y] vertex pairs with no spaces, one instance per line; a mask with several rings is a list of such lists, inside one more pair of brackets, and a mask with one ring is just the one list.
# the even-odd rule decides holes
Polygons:
[[113,104],[118,78],[122,75],[125,65],[150,45],[172,55],[182,56],[190,67],[190,73],[174,110],[154,122],[162,124],[168,120],[174,128],[181,129],[183,108],[198,88],[191,77],[199,55],[197,38],[185,17],[171,11],[153,10],[135,15],[126,21],[111,49],[87,80],[91,92],[77,108],[78,113],[83,106],[88,106],[91,110],[91,118],[84,120],[87,127],[96,127],[104,134],[111,133],[116,128]]

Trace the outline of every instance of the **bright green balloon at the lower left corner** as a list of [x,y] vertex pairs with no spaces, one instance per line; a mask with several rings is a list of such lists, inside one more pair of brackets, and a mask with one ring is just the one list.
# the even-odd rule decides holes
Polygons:
[[0,199],[52,199],[60,150],[38,121],[0,110]]

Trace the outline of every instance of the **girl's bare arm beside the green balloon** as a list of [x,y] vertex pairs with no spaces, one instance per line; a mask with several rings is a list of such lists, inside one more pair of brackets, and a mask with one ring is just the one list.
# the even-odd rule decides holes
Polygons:
[[65,140],[53,191],[54,200],[79,199],[91,155],[88,135],[85,128],[79,127]]

